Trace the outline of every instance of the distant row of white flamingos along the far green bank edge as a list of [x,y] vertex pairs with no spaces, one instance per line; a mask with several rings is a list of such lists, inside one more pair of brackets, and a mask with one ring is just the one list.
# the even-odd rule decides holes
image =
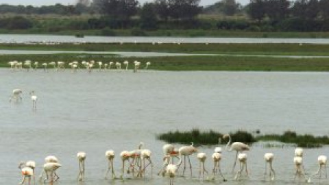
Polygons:
[[[129,61],[125,60],[122,62],[122,64],[125,66],[124,69],[121,69],[121,62],[102,62],[98,61],[95,62],[95,60],[90,61],[73,61],[73,62],[64,62],[64,61],[58,61],[58,62],[42,62],[41,68],[44,71],[49,71],[50,69],[53,69],[54,71],[64,71],[66,68],[71,69],[72,73],[77,72],[78,69],[82,70],[85,69],[88,72],[93,71],[93,69],[97,69],[97,71],[109,71],[114,70],[116,71],[128,71],[129,70]],[[133,68],[132,71],[137,72],[139,69],[141,69],[142,63],[140,61],[135,60],[132,62]],[[8,62],[8,65],[10,65],[11,71],[22,71],[23,69],[26,69],[27,71],[37,70],[39,69],[39,62],[35,61],[32,62],[32,60],[25,60],[24,62],[19,62],[17,60]],[[149,66],[151,65],[151,62],[147,61],[145,62],[145,65],[143,65],[143,70],[149,69]],[[114,66],[114,68],[112,68]]]

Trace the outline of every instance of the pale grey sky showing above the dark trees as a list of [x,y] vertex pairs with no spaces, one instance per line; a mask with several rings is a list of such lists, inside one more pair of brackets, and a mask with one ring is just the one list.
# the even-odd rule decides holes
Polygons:
[[[141,4],[153,0],[138,0]],[[200,5],[211,5],[221,0],[201,0]],[[34,5],[34,6],[40,6],[40,5],[54,5],[56,3],[61,3],[63,5],[68,4],[75,4],[76,0],[0,0],[0,4],[10,4],[10,5]],[[243,5],[249,3],[249,0],[236,0],[236,2],[239,2]]]

